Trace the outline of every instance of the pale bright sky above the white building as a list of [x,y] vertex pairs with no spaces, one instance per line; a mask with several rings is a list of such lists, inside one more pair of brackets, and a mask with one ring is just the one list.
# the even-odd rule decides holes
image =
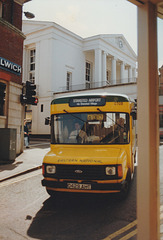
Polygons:
[[[137,7],[127,0],[32,0],[23,10],[32,12],[34,21],[55,22],[83,38],[123,34],[137,54]],[[162,65],[163,20],[158,19],[158,67]]]

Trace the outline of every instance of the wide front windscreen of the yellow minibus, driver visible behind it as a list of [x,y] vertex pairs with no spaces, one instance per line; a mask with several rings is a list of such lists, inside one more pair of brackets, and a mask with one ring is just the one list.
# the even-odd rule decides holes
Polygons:
[[52,144],[127,144],[129,114],[66,113],[51,117]]

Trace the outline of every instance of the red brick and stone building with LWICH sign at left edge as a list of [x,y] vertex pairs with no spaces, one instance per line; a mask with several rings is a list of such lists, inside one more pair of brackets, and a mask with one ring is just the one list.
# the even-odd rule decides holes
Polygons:
[[17,154],[23,151],[22,6],[28,1],[0,0],[0,128],[16,129]]

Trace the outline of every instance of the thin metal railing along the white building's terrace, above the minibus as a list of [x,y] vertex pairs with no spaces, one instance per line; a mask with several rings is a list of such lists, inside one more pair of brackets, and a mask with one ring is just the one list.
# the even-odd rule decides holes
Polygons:
[[122,84],[130,84],[130,83],[136,83],[136,82],[137,82],[137,78],[117,79],[115,81],[109,80],[109,81],[102,81],[102,82],[90,82],[90,83],[87,82],[85,84],[71,85],[69,89],[67,89],[66,86],[60,87],[58,92],[78,91],[78,90],[85,90],[85,89],[116,86],[116,85],[122,85]]

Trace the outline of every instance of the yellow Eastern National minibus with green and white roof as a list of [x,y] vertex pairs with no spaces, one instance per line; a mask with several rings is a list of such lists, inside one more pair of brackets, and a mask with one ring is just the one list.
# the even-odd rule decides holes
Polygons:
[[136,157],[136,107],[122,94],[77,94],[51,102],[51,150],[42,185],[56,192],[127,196]]

